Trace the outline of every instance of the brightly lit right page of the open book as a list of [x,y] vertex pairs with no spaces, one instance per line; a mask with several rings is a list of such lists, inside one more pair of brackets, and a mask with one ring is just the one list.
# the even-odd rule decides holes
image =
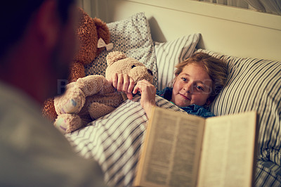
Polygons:
[[207,119],[198,186],[251,186],[255,136],[256,112]]

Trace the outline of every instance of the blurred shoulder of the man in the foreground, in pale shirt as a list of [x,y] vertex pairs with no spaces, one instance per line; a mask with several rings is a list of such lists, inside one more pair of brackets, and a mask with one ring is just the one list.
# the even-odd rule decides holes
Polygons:
[[[67,138],[42,117],[39,104],[15,91],[0,82],[0,165],[1,171],[7,171],[5,182],[15,186],[39,186],[42,181],[45,186],[103,183],[99,165],[75,154]],[[27,180],[34,174],[36,179]],[[55,175],[60,177],[48,180]],[[14,181],[10,176],[19,177]]]

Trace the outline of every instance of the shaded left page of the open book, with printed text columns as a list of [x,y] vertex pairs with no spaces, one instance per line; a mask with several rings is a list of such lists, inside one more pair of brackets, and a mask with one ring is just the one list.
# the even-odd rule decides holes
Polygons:
[[152,116],[139,186],[195,186],[204,119],[162,108]]

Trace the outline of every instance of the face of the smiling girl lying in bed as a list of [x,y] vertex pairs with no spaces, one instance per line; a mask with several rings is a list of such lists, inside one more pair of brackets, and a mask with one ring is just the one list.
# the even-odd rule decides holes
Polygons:
[[176,75],[171,102],[179,107],[209,104],[212,81],[202,65],[188,64]]

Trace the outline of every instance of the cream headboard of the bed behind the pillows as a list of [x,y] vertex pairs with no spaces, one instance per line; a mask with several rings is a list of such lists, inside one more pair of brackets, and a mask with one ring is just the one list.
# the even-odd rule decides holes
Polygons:
[[281,60],[281,16],[190,0],[96,1],[93,15],[114,22],[144,12],[154,41],[202,35],[197,48]]

